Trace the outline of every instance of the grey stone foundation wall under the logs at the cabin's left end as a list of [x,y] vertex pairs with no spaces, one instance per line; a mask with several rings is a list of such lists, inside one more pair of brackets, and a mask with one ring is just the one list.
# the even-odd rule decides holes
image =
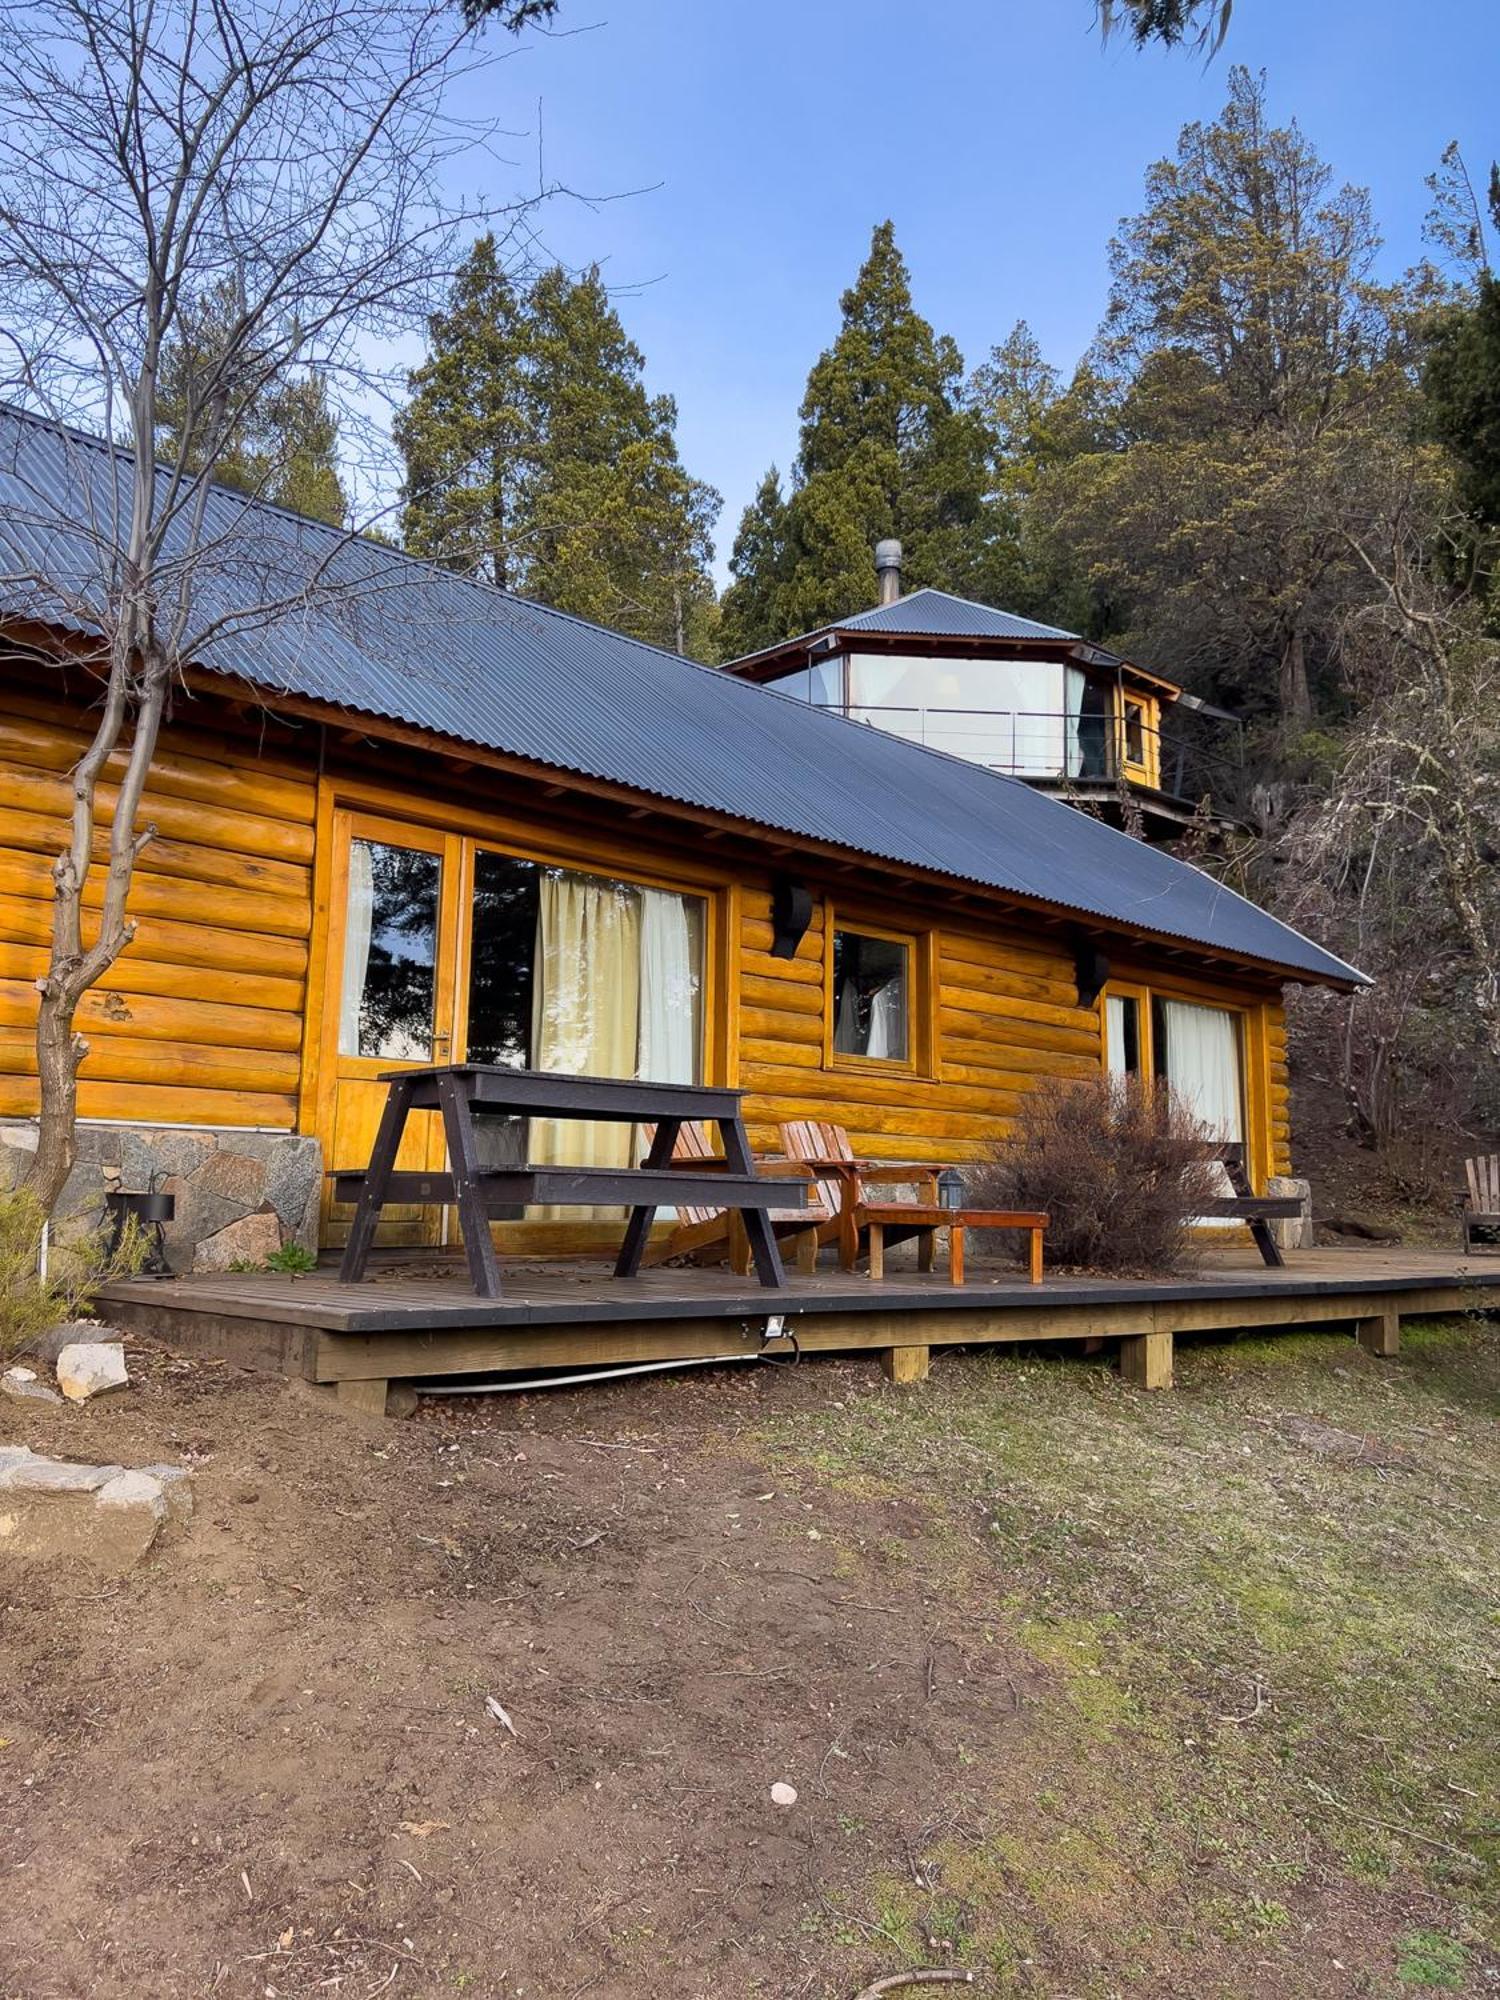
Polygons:
[[[36,1150],[36,1126],[0,1124],[0,1186],[14,1186]],[[226,1270],[258,1262],[286,1242],[318,1248],[322,1146],[296,1132],[236,1132],[232,1126],[78,1126],[78,1164],[54,1224],[94,1228],[112,1190],[152,1184],[176,1196],[166,1224],[174,1270]]]

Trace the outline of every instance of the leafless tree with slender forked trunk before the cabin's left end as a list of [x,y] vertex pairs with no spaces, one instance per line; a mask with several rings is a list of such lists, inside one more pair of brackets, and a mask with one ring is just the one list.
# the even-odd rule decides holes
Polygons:
[[[58,472],[58,434],[38,458],[14,422],[26,502],[0,522],[8,610],[86,634],[98,678],[38,980],[28,1184],[48,1210],[74,1160],[76,1010],[134,932],[170,690],[234,632],[396,568],[352,532],[282,530],[272,548],[256,496],[226,496],[214,470],[288,374],[368,436],[370,356],[420,330],[476,226],[498,218],[518,244],[530,202],[450,192],[472,162],[496,170],[488,128],[448,110],[494,60],[436,0],[0,0],[0,392],[104,440],[66,432]],[[174,462],[158,464],[166,364]]]

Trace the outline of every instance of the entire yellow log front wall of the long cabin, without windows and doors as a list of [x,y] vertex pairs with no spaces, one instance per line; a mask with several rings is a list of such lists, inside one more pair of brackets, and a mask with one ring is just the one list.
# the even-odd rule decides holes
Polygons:
[[[748,1092],[758,1148],[776,1148],[786,1118],[826,1116],[862,1154],[976,1158],[1004,1136],[1038,1078],[1100,1068],[1100,1008],[1078,1006],[1064,926],[992,916],[980,902],[934,906],[872,870],[786,852],[780,866],[814,890],[814,918],[796,958],[774,958],[768,864],[750,840],[706,844],[666,818],[648,830],[624,808],[556,796],[556,782],[542,794],[360,744],[352,732],[330,758],[320,812],[316,728],[282,730],[266,752],[244,720],[224,718],[218,732],[220,710],[206,700],[190,716],[190,728],[166,732],[152,774],[146,816],[158,838],[130,898],[136,942],[80,1012],[90,1042],[80,1080],[86,1118],[286,1130],[316,1122],[318,1052],[314,1036],[304,1058],[304,1022],[316,962],[314,862],[326,894],[328,854],[316,848],[318,828],[330,826],[330,792],[496,846],[514,844],[518,826],[546,844],[552,822],[574,864],[598,856],[602,872],[626,876],[634,864],[712,896],[720,946],[708,1074]],[[0,1116],[36,1110],[34,980],[46,964],[48,868],[64,836],[66,772],[84,748],[82,724],[78,708],[30,692],[6,694],[0,708]],[[830,908],[840,924],[916,940],[910,1068],[826,1060]],[[1260,1154],[1288,1172],[1286,1028],[1274,984],[1174,966],[1154,952],[1122,954],[1118,976],[1248,1010]]]

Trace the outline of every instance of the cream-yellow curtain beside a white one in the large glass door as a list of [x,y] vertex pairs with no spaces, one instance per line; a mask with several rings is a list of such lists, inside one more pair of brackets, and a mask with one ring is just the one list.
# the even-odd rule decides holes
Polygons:
[[[592,876],[542,874],[536,914],[532,1064],[564,1076],[634,1076],[640,1036],[640,898]],[[628,1124],[532,1118],[538,1166],[626,1166]],[[552,1222],[606,1214],[538,1208]]]

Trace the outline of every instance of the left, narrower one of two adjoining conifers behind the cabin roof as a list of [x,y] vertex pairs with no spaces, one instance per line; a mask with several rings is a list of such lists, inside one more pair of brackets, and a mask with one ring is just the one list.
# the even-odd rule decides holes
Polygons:
[[528,342],[494,236],[480,236],[428,322],[428,358],[394,424],[406,546],[500,588],[518,570],[514,516],[536,442]]

